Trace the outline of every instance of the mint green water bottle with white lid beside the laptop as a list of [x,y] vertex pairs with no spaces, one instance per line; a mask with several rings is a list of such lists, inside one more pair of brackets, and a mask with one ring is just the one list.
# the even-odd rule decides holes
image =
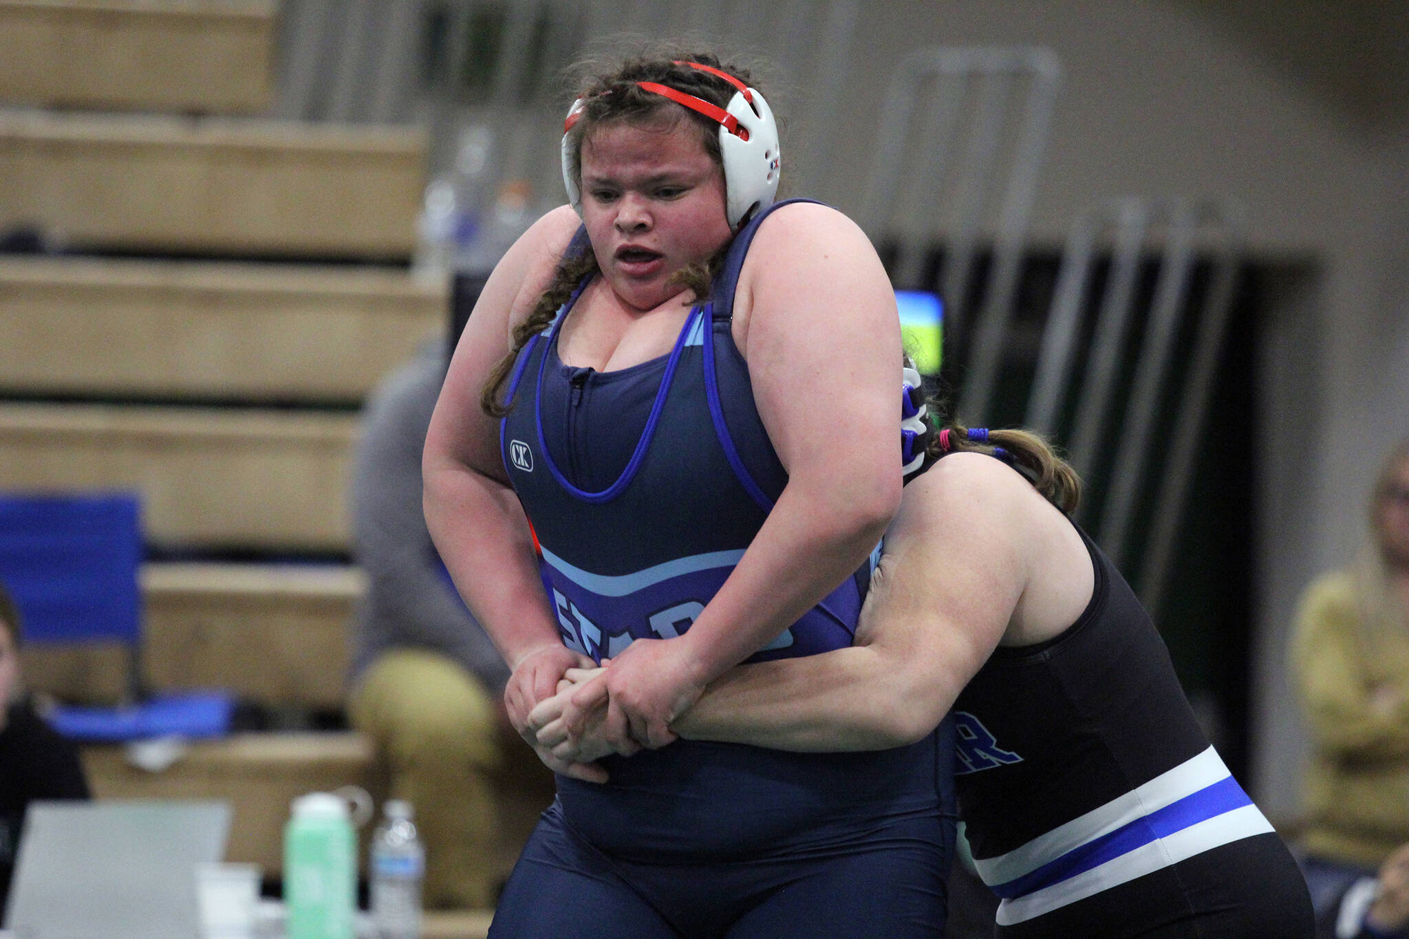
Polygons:
[[331,793],[293,800],[283,832],[287,939],[352,939],[356,835],[348,804]]

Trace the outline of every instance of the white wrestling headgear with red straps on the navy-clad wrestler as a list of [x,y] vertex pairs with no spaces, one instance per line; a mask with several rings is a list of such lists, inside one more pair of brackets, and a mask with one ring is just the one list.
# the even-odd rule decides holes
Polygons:
[[[728,218],[728,227],[737,231],[750,210],[768,208],[778,194],[781,168],[778,122],[774,121],[772,108],[768,107],[764,96],[728,72],[700,62],[676,62],[676,65],[709,72],[738,89],[730,99],[728,107],[721,108],[666,84],[637,82],[647,92],[668,97],[676,104],[719,121],[719,148],[724,158],[724,214]],[[573,101],[572,107],[568,108],[568,118],[562,122],[562,184],[566,187],[568,201],[572,203],[578,215],[582,214],[582,191],[572,177],[572,145],[568,131],[582,117],[585,106],[583,99]]]

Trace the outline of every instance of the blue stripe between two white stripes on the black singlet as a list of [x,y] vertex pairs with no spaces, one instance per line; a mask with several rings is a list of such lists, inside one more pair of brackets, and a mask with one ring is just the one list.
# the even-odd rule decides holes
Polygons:
[[1026,897],[1036,890],[1075,877],[1092,867],[1099,867],[1158,838],[1165,838],[1191,825],[1251,804],[1253,800],[1247,797],[1243,787],[1229,776],[1200,788],[1192,795],[1186,795],[1158,811],[1137,818],[1102,838],[1086,842],[1081,847],[1072,849],[1061,857],[1043,864],[1030,874],[1010,880],[1006,884],[993,886],[991,890],[1003,900]]

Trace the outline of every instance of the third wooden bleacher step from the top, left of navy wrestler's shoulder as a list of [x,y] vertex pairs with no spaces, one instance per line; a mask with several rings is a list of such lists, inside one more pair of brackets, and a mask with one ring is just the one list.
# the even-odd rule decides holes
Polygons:
[[447,308],[444,287],[379,267],[0,258],[0,384],[361,400]]

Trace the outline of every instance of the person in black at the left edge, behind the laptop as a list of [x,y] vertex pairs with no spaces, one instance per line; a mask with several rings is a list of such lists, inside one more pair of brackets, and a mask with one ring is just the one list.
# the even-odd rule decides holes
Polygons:
[[20,673],[20,614],[0,586],[0,919],[34,800],[89,798],[73,743],[35,714]]

